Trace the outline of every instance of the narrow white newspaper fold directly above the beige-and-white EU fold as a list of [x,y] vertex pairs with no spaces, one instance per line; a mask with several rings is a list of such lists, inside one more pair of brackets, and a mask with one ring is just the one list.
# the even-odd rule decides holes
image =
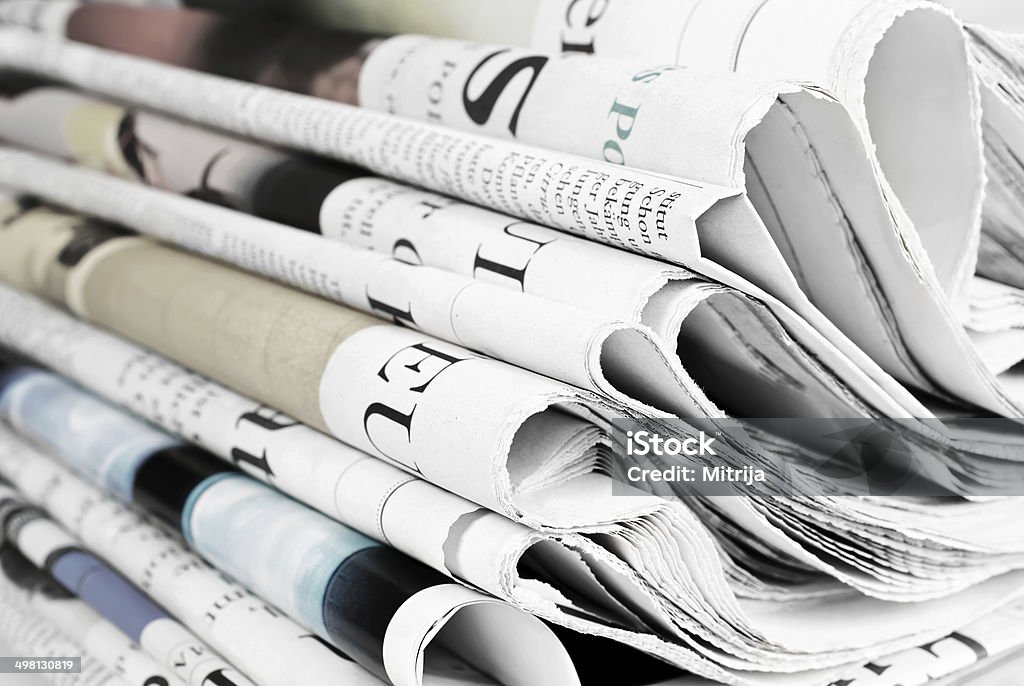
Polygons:
[[[602,393],[636,413],[720,414],[682,367],[675,346],[643,325],[408,264],[196,200],[83,175],[13,153],[0,160],[4,182],[22,187],[15,179],[29,178],[25,165],[41,165],[39,172],[47,179],[31,189],[33,195],[122,225],[142,227],[156,238],[395,325]],[[707,299],[718,292],[708,286],[693,300],[699,302],[701,296]]]

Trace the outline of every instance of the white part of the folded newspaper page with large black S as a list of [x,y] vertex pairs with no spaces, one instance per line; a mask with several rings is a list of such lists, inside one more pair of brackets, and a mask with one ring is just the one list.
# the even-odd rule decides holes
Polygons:
[[[959,395],[989,384],[922,247],[927,234],[887,197],[847,111],[814,89],[402,36],[370,53],[359,95],[371,109],[663,173],[703,169],[743,185],[745,169],[790,267],[844,333],[919,388],[934,392],[939,380]],[[941,354],[937,340],[948,341]]]

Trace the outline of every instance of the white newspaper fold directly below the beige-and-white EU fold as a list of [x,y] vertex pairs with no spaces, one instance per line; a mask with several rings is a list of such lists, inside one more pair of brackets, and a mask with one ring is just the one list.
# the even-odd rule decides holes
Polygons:
[[[45,332],[49,342],[13,340],[16,347],[187,437],[251,476],[421,562],[519,604],[552,600],[583,613],[555,589],[519,577],[520,559],[550,555],[563,572],[585,577],[583,560],[557,550],[550,535],[514,524],[429,482],[411,477],[285,416],[137,346],[77,321],[42,303],[4,291],[10,323]],[[63,349],[65,342],[75,341]],[[309,475],[316,475],[310,479]],[[384,505],[381,505],[381,504]],[[423,516],[424,512],[432,516]],[[596,564],[593,555],[590,564]]]

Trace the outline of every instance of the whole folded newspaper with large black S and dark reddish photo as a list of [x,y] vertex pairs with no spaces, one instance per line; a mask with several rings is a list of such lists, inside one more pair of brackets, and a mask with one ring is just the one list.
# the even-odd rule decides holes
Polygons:
[[[868,12],[862,9],[862,13]],[[937,18],[927,12],[924,16]],[[938,20],[952,24],[948,17]],[[173,47],[145,39],[158,27],[173,34]],[[949,164],[957,170],[967,170],[969,165],[963,159],[936,161],[934,168],[943,170],[939,175],[949,177],[941,182],[926,179],[916,169],[906,174],[913,184],[910,202],[934,213],[927,225],[915,230],[885,178],[876,173],[870,156],[873,146],[863,146],[850,115],[818,89],[700,69],[652,67],[651,62],[551,59],[543,53],[416,36],[381,42],[368,36],[187,10],[91,4],[71,15],[67,30],[78,41],[222,76],[703,183],[745,186],[765,223],[745,219],[750,224],[743,238],[745,249],[739,250],[740,239],[726,239],[714,214],[707,215],[708,228],[700,239],[708,256],[760,285],[770,285],[769,290],[806,315],[803,294],[788,288],[796,276],[833,323],[887,371],[914,386],[978,402],[977,387],[992,385],[984,359],[971,349],[952,307],[964,309],[961,301],[967,297],[973,274],[973,263],[965,266],[959,260],[977,251],[976,237],[966,248],[954,239],[962,225],[977,224],[980,189],[957,201],[949,188],[959,191],[970,184],[945,170]],[[889,42],[893,40],[898,39]],[[254,54],[250,46],[257,43],[262,50]],[[954,47],[963,56],[962,43],[958,39]],[[966,71],[963,58],[959,68]],[[959,99],[976,99],[969,87],[973,81],[966,83],[970,81],[967,75],[964,81]],[[941,86],[954,90],[948,78]],[[957,99],[956,92],[926,90],[918,84],[911,91],[914,101],[927,100],[932,106],[939,97]],[[951,118],[944,131],[969,128],[954,124],[954,108],[946,106],[944,112]],[[972,122],[976,118],[974,113],[965,117]],[[915,127],[890,137],[912,146],[916,141],[911,140],[911,133],[928,135]],[[966,141],[975,148],[980,145],[970,136]],[[929,145],[934,152],[934,145]],[[942,149],[954,146],[947,140]],[[902,147],[898,152],[908,154]],[[979,157],[977,149],[966,156],[979,168],[973,175],[979,179],[975,185],[981,178]],[[818,192],[809,195],[809,187]],[[332,209],[325,208],[325,221],[334,223],[350,214],[346,198],[360,199],[364,194],[357,186],[348,195],[339,194]],[[967,208],[971,218],[953,220],[952,216],[964,212],[951,213],[943,202]],[[649,205],[655,216],[664,212],[664,203],[640,200],[640,204],[641,208]],[[935,219],[938,216],[941,222]],[[831,230],[825,232],[823,226]],[[972,233],[977,233],[976,226]],[[768,246],[772,240],[777,249],[759,249],[757,267],[744,263],[755,245]],[[952,249],[951,257],[933,254],[930,259],[924,247],[915,248],[922,242],[929,245],[930,240],[935,250]],[[718,245],[719,241],[728,245]],[[908,253],[906,260],[894,259],[900,251]],[[965,275],[955,277],[957,295],[951,302],[943,290],[947,280],[933,273],[937,259],[956,262],[952,268],[957,271],[966,269]],[[770,273],[762,275],[765,271]],[[851,289],[863,291],[865,297],[851,300]],[[1022,334],[1010,336],[1014,340],[1005,350],[1013,350],[1011,343],[1024,340]],[[940,357],[936,340],[955,344]],[[974,380],[967,385],[975,388],[965,389],[966,380]]]

